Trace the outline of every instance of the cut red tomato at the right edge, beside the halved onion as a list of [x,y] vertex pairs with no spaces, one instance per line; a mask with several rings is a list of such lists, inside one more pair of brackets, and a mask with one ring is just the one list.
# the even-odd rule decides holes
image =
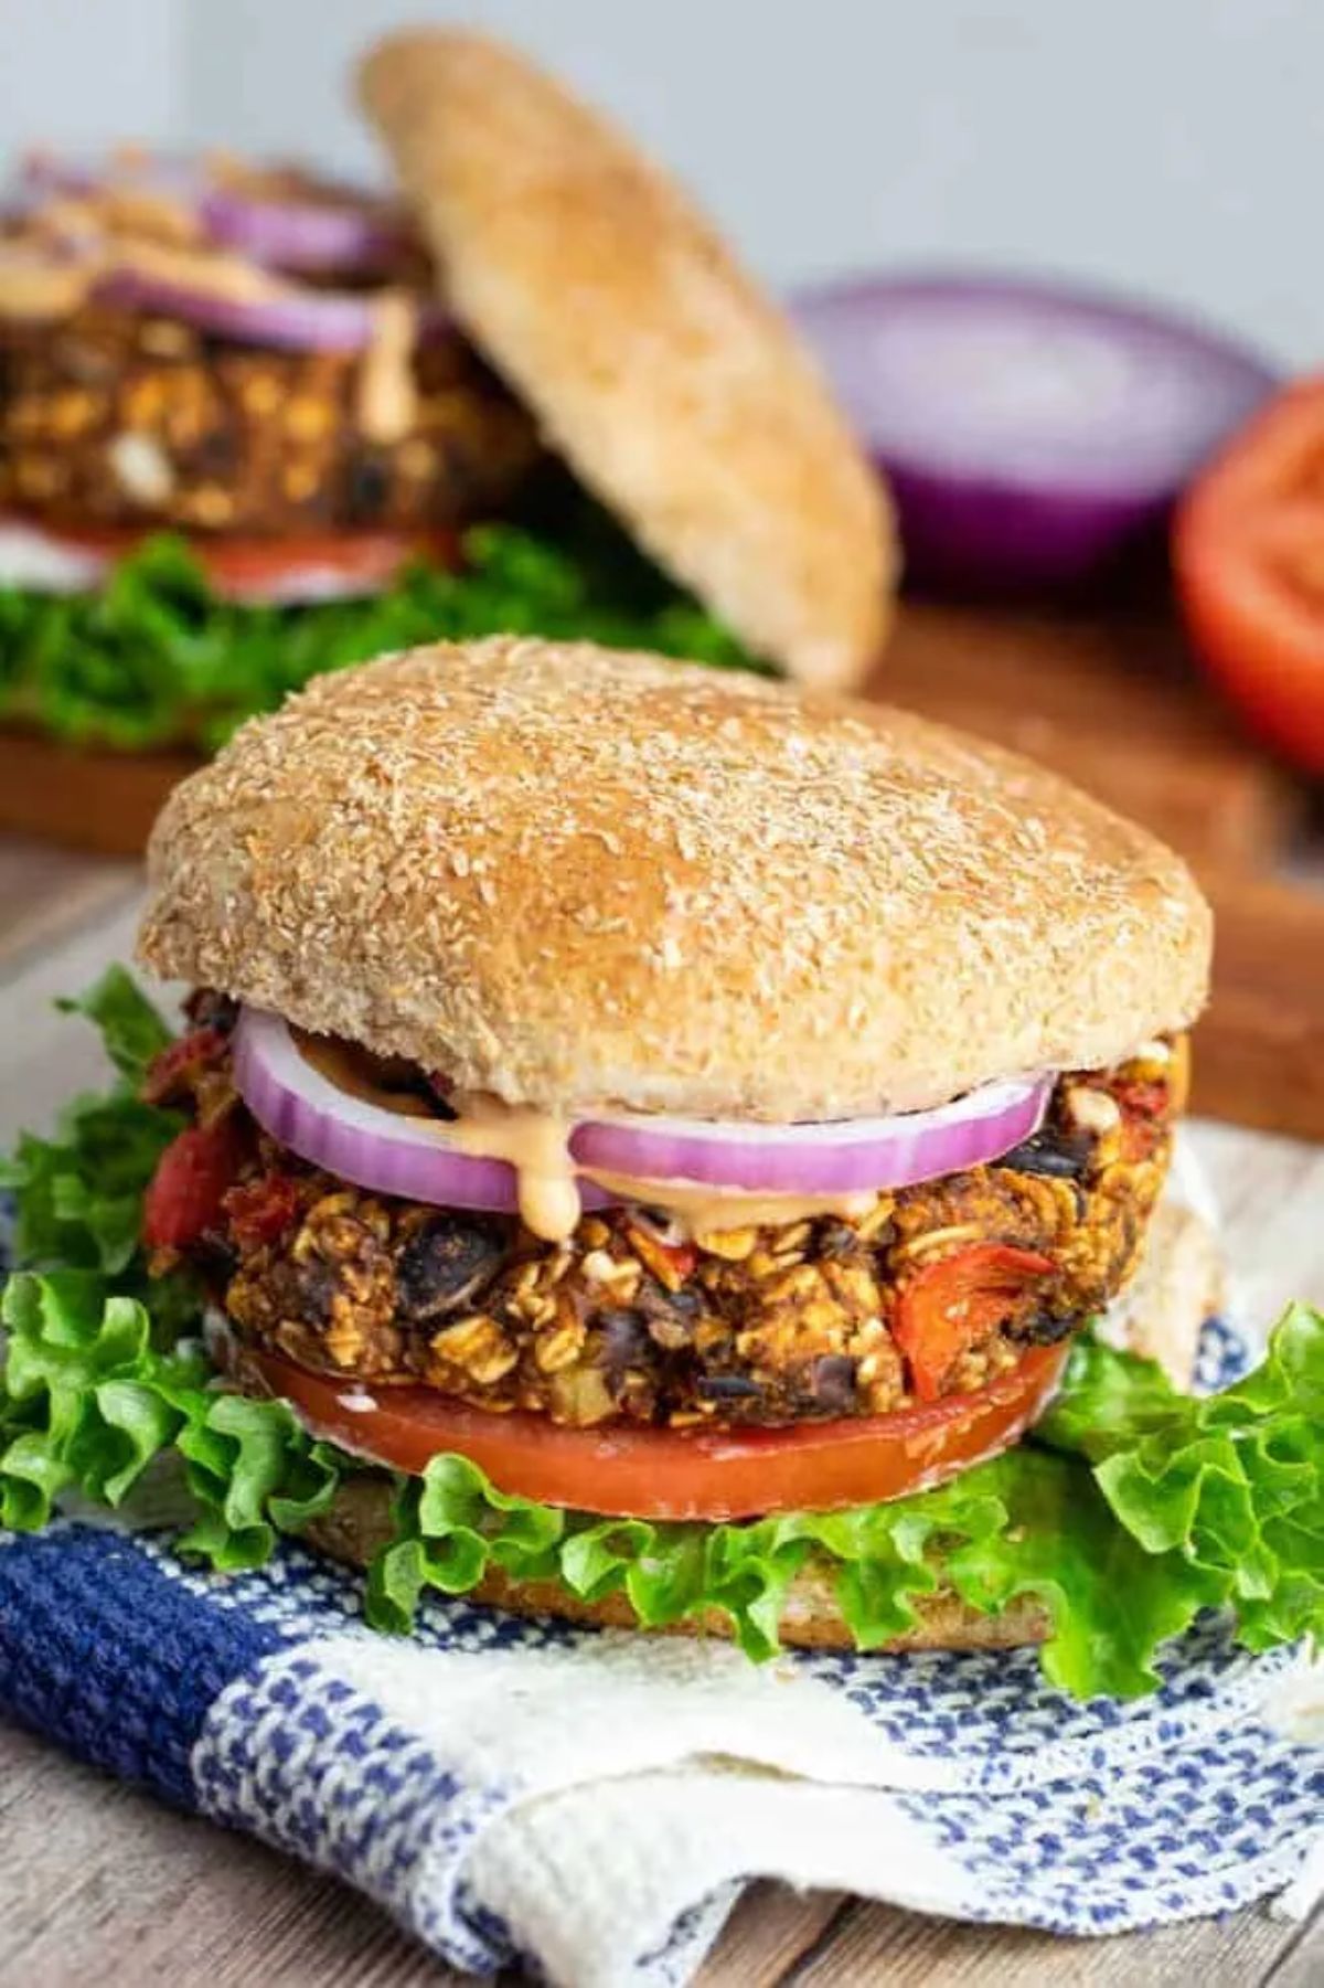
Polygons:
[[1173,527],[1191,640],[1252,732],[1324,773],[1324,378],[1286,388]]

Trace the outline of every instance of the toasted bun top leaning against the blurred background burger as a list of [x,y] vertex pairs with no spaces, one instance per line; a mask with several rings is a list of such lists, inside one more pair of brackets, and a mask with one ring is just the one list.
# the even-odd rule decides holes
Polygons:
[[479,34],[392,36],[360,87],[457,320],[580,481],[755,652],[859,682],[897,573],[881,483],[684,193]]

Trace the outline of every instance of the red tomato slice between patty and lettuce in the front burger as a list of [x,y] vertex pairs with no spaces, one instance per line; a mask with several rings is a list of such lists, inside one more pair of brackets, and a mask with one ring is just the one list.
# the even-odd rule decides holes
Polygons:
[[469,1408],[435,1388],[382,1388],[376,1408],[356,1411],[346,1398],[362,1388],[350,1380],[328,1380],[248,1346],[235,1364],[290,1400],[318,1435],[392,1469],[419,1473],[449,1453],[469,1457],[497,1489],[541,1505],[722,1521],[839,1511],[942,1483],[1030,1427],[1066,1356],[1066,1346],[1036,1346],[978,1394],[791,1429],[565,1429],[545,1415]]

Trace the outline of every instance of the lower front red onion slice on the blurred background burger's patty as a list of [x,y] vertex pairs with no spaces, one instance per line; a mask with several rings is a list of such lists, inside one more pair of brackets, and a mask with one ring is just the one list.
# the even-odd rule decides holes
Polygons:
[[[177,282],[137,268],[119,268],[95,286],[97,298],[127,310],[155,310],[183,324],[197,324],[219,338],[284,352],[362,352],[376,328],[372,294],[350,290],[308,290],[280,286],[270,294],[227,296],[205,280]],[[419,338],[435,338],[445,328],[445,312],[419,302]]]

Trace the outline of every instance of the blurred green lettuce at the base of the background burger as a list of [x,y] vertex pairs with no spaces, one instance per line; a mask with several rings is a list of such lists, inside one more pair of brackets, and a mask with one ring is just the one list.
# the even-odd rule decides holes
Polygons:
[[72,744],[213,751],[322,670],[419,642],[537,632],[753,668],[740,642],[586,503],[557,537],[483,525],[455,571],[306,606],[219,598],[183,539],[147,539],[91,594],[0,588],[0,720]]

